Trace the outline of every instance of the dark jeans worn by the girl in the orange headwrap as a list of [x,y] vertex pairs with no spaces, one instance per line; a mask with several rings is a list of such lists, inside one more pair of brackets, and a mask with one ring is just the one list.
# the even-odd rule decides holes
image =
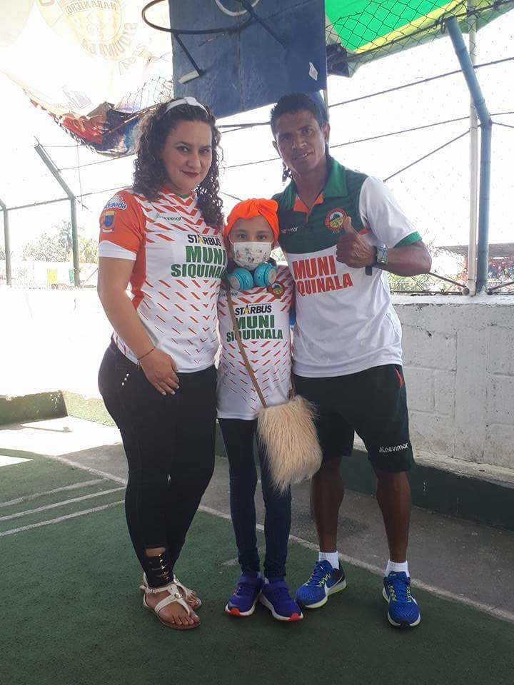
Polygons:
[[[260,568],[255,508],[257,470],[253,459],[253,438],[257,420],[220,419],[219,424],[228,456],[231,516],[236,533],[239,564],[243,574],[254,574]],[[284,493],[277,491],[271,480],[266,451],[259,441],[257,447],[266,508],[264,575],[268,579],[282,579],[286,575],[288,538],[291,529],[291,488]]]

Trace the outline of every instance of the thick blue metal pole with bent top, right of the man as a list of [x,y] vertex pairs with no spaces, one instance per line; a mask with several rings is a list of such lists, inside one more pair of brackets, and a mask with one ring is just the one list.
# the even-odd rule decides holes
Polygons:
[[462,32],[455,16],[447,21],[448,33],[453,49],[460,63],[464,78],[468,84],[473,104],[480,119],[480,196],[478,201],[478,259],[476,293],[483,293],[487,288],[489,260],[489,200],[490,200],[490,154],[493,122],[485,104],[480,83],[466,49]]

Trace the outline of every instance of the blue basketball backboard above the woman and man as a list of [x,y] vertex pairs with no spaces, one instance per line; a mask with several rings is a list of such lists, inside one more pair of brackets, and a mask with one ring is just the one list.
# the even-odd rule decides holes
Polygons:
[[194,96],[219,118],[325,88],[323,0],[168,2],[171,28],[179,30],[172,35],[176,97]]

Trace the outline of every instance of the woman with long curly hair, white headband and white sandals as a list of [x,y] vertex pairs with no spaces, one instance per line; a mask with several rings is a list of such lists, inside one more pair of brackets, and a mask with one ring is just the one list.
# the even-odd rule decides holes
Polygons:
[[114,335],[99,387],[129,462],[126,519],[143,606],[173,629],[198,626],[201,604],[173,567],[213,472],[226,267],[219,140],[194,98],[159,105],[142,123],[133,187],[101,215],[98,292]]

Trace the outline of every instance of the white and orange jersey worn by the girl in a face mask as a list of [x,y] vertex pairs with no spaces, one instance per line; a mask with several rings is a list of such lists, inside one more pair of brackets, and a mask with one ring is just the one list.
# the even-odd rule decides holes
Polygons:
[[[293,278],[287,267],[278,267],[273,285],[243,292],[231,290],[231,300],[246,355],[266,405],[281,405],[291,390],[289,312],[294,301]],[[262,408],[261,400],[239,351],[224,286],[218,300],[218,320],[218,417],[254,419]]]

